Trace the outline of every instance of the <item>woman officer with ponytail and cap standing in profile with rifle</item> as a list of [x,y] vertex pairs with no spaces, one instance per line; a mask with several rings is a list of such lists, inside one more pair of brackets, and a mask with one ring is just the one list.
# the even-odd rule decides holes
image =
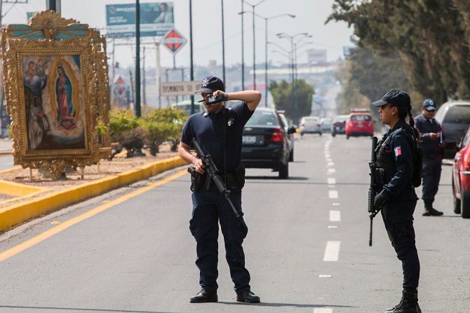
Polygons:
[[[413,128],[410,96],[402,90],[390,90],[379,107],[382,123],[390,130],[377,144],[375,181],[382,187],[375,196],[375,210],[382,209],[385,228],[403,267],[403,296],[400,303],[386,313],[421,312],[418,305],[419,258],[415,246],[413,212],[418,200],[413,185],[413,155],[417,133]],[[410,125],[405,122],[410,118]]]

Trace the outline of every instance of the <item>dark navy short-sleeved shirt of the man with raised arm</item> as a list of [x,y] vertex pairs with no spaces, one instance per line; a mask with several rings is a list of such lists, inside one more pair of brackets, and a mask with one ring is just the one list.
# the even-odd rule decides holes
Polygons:
[[[192,139],[196,137],[204,153],[212,155],[220,173],[232,172],[240,165],[243,127],[253,112],[246,102],[241,102],[231,109],[222,108],[219,113],[193,114],[183,127],[181,141],[191,146]],[[227,132],[225,144],[224,127]],[[227,147],[225,157],[224,146]]]

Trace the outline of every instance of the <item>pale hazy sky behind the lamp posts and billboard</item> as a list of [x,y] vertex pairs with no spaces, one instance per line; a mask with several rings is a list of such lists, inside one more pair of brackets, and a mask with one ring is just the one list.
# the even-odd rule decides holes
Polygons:
[[[246,0],[250,4],[257,4],[260,0]],[[74,18],[90,27],[102,29],[106,27],[106,4],[130,4],[132,0],[62,0],[62,16]],[[161,2],[141,0],[140,3]],[[172,2],[172,1],[167,1]],[[188,39],[188,43],[175,56],[177,67],[189,66],[189,0],[173,0],[175,29]],[[307,49],[326,49],[328,61],[342,57],[343,46],[351,46],[350,36],[352,29],[344,22],[330,22],[325,20],[332,11],[333,0],[264,0],[256,6],[255,13],[265,18],[280,14],[293,14],[295,18],[287,16],[274,18],[268,21],[268,41],[272,41],[286,50],[290,50],[287,39],[278,39],[276,34],[284,32],[293,36],[307,32],[312,42],[297,51],[298,62],[307,61]],[[27,12],[42,11],[46,9],[46,0],[29,0],[27,4],[4,4],[2,24],[23,24],[27,22]],[[194,64],[208,65],[210,60],[217,64],[222,63],[222,18],[221,0],[193,0],[193,41]],[[245,10],[252,7],[245,4]],[[224,29],[225,29],[225,63],[228,66],[241,63],[241,0],[224,0]],[[253,64],[253,18],[246,13],[244,22],[245,34],[245,62]],[[264,19],[255,19],[255,51],[256,61],[264,62],[265,27]],[[112,45],[107,46],[108,54]],[[276,46],[268,46],[268,60],[274,64],[287,61],[287,57],[273,50],[281,51]],[[131,46],[116,46],[115,60],[120,64],[133,64],[135,53]],[[156,52],[153,47],[146,49],[146,67],[156,64]],[[142,55],[141,55],[142,57]],[[166,48],[161,48],[161,65],[173,65],[173,54]]]

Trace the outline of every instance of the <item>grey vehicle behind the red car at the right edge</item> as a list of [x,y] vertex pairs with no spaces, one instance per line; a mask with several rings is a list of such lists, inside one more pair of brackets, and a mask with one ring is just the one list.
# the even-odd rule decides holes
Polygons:
[[[445,141],[452,141],[458,144],[462,141],[466,129],[470,125],[470,102],[446,102],[439,107],[435,118],[441,123],[445,134]],[[445,149],[444,158],[452,159],[454,156],[455,149]]]

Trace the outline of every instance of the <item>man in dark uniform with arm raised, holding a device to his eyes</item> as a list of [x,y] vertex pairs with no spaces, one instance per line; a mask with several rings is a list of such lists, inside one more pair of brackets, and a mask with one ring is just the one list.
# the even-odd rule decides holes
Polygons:
[[[255,90],[228,93],[224,90],[224,83],[220,78],[208,76],[203,79],[202,88],[198,92],[201,92],[201,101],[207,111],[189,117],[182,130],[178,154],[188,163],[192,163],[196,172],[203,174],[205,168],[202,160],[190,152],[191,141],[196,138],[203,152],[212,155],[220,176],[227,188],[231,189],[230,199],[241,213],[243,183],[234,178],[234,173],[239,173],[241,169],[243,127],[260,103],[261,93]],[[224,101],[239,100],[241,103],[231,109],[226,109],[223,102],[207,104],[208,97],[217,95],[223,95]],[[244,169],[241,170],[244,179]],[[236,300],[260,302],[260,297],[250,291],[250,273],[245,267],[245,254],[241,244],[248,228],[243,217],[236,217],[225,197],[213,183],[208,188],[205,186],[201,190],[194,190],[192,203],[189,229],[196,239],[196,266],[200,272],[201,291],[190,298],[190,302],[217,302],[219,223],[224,235],[231,280],[235,284]]]

